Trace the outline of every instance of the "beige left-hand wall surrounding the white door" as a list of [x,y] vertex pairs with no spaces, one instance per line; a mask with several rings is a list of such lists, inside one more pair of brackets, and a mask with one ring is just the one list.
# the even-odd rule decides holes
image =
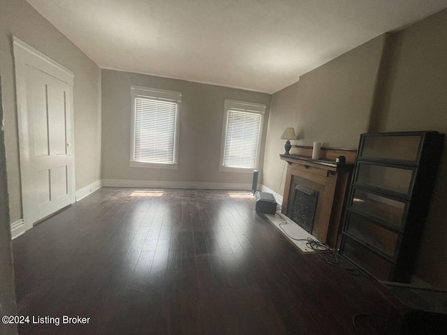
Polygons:
[[12,36],[75,74],[76,190],[101,179],[101,70],[27,1],[0,0],[0,69],[5,112],[10,220],[22,218]]

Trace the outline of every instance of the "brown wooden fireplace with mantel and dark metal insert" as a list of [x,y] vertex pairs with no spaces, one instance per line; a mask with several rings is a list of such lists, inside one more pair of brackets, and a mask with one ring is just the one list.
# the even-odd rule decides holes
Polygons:
[[[321,148],[321,153],[321,159],[312,159],[312,147],[293,146],[290,155],[279,155],[288,163],[281,212],[319,241],[338,248],[356,150]],[[337,156],[346,161],[337,163]]]

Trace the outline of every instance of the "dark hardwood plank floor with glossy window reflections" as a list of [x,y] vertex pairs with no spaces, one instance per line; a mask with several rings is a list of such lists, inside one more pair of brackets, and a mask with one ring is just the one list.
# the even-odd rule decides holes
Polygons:
[[386,334],[396,313],[378,283],[300,253],[247,193],[101,188],[13,253],[20,315],[90,318],[20,334]]

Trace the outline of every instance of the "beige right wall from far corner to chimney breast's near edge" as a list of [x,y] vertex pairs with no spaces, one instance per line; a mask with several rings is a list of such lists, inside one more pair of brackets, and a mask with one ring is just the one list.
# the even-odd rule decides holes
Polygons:
[[382,35],[300,77],[300,81],[273,94],[262,183],[284,191],[281,183],[284,128],[294,124],[293,144],[356,148],[366,133],[386,36]]

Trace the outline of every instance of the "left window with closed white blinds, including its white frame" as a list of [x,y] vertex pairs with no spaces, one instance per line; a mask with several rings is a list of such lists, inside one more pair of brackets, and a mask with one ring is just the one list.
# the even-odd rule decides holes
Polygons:
[[[182,94],[132,87],[131,166],[177,164],[179,101]],[[173,168],[172,166],[169,168]]]

